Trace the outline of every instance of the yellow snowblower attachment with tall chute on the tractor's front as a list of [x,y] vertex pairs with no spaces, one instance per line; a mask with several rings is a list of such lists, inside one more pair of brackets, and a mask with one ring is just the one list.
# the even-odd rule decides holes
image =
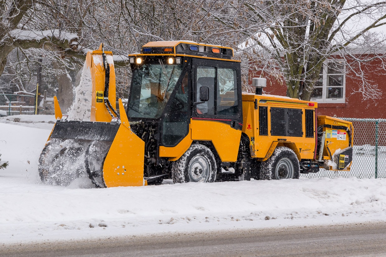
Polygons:
[[39,158],[43,183],[66,186],[89,177],[97,187],[146,185],[144,141],[131,131],[121,99],[119,114],[115,110],[112,52],[102,47],[86,57],[93,82],[91,121],[67,120],[55,98],[58,120]]

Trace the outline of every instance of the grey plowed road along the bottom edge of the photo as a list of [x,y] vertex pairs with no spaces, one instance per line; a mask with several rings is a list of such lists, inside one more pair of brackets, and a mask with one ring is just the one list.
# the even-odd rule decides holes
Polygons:
[[0,256],[386,256],[386,223],[0,244]]

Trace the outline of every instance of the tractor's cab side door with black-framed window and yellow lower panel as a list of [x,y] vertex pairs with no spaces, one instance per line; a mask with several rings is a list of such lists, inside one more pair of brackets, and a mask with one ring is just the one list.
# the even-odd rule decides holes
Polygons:
[[[191,137],[212,141],[221,161],[237,160],[242,128],[240,64],[194,59],[192,67]],[[200,101],[208,87],[208,101]]]

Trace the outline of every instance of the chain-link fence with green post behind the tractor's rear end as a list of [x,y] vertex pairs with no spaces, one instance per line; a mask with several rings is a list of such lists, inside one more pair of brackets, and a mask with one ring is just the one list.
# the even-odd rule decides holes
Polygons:
[[354,119],[354,146],[350,171],[329,171],[301,174],[306,178],[386,178],[386,119]]

